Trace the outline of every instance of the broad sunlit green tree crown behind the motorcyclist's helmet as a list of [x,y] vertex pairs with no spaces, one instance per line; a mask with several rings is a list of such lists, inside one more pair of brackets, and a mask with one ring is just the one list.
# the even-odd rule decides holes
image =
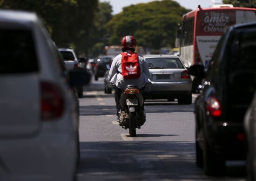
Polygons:
[[124,7],[106,25],[110,43],[119,45],[123,36],[133,35],[144,47],[174,46],[177,25],[188,11],[173,0]]

